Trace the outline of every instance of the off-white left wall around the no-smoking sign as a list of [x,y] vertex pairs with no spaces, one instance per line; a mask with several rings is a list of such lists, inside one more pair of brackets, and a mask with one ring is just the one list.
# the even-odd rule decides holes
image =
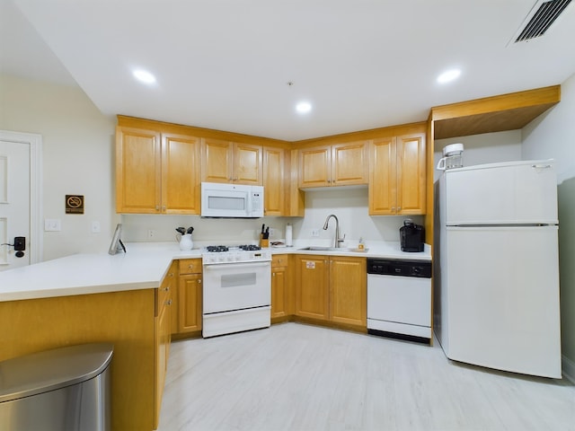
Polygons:
[[[115,119],[106,118],[77,86],[0,75],[0,128],[42,136],[43,216],[61,220],[44,233],[43,259],[107,250],[114,214]],[[84,215],[66,215],[66,194],[84,195]],[[92,233],[93,221],[101,233]]]

